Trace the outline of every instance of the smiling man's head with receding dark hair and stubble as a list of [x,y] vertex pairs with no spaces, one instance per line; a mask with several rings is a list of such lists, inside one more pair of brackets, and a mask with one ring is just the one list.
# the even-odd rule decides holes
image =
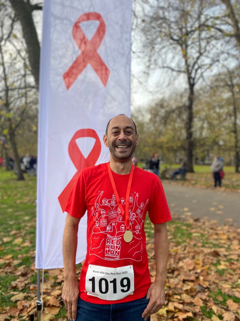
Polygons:
[[103,140],[115,160],[132,159],[132,154],[138,144],[138,134],[135,133],[132,119],[122,115],[112,118],[108,133],[104,135]]

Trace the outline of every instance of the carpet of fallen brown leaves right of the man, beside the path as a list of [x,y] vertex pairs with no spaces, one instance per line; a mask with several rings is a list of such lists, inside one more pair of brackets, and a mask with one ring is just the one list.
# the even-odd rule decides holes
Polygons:
[[[169,224],[168,230],[166,304],[152,320],[240,320],[240,230],[183,217]],[[149,268],[154,279],[152,239],[148,242]]]

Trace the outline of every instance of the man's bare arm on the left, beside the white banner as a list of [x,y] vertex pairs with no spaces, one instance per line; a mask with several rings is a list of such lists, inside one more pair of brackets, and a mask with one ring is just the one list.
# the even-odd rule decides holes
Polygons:
[[77,231],[80,219],[67,214],[63,233],[64,284],[62,299],[69,313],[70,320],[76,320],[79,284],[76,277]]

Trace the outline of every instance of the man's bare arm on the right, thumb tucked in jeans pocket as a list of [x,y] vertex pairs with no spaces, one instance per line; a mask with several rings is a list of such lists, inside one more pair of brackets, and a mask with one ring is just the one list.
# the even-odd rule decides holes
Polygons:
[[150,285],[146,298],[150,298],[142,317],[146,321],[165,304],[165,282],[168,261],[168,239],[166,223],[154,225],[154,248],[156,261],[156,278]]

